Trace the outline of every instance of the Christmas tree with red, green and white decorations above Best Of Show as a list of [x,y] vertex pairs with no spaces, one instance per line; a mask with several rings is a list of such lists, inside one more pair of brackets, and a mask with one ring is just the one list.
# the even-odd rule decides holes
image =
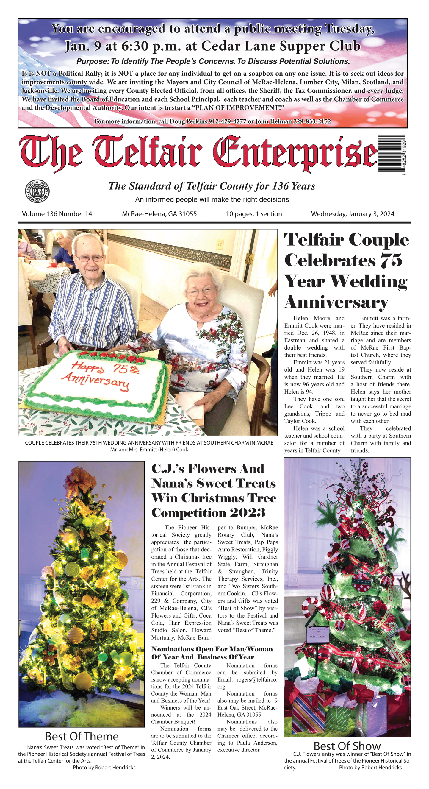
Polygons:
[[[330,643],[319,647],[318,675],[326,684],[345,681],[396,692],[410,684],[410,623],[401,608],[402,590],[394,584],[395,551],[404,542],[395,528],[395,510],[382,475],[367,473],[367,462],[341,464],[341,480],[319,502],[318,527],[334,526],[329,562],[322,570],[320,598],[307,598],[303,613],[315,605],[312,625],[330,626]],[[315,668],[315,646],[296,650]]]

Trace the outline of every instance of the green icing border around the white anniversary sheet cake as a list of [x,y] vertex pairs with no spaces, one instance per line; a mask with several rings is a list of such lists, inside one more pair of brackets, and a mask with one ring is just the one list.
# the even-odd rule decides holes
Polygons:
[[[80,353],[82,353],[82,351],[80,351],[80,352],[69,351],[69,353],[78,353],[78,354],[80,354]],[[28,394],[25,397],[25,404],[27,406],[31,406],[32,408],[34,408],[36,410],[39,410],[39,411],[40,410],[54,411],[54,412],[58,411],[58,409],[55,409],[55,406],[48,406],[48,405],[41,406],[41,404],[39,402],[35,402],[34,400],[31,400],[30,398],[31,398],[31,395],[34,394],[35,387],[38,386],[40,381],[42,381],[43,378],[45,378],[45,376],[48,375],[48,373],[51,371],[51,369],[53,367],[55,367],[56,365],[58,365],[59,362],[62,361],[62,359],[64,359],[66,356],[69,356],[69,353],[65,353],[64,356],[62,356],[61,358],[59,358],[56,361],[54,361],[54,365],[50,365],[49,368],[47,370],[45,370],[45,372],[43,372],[42,375],[39,376],[39,378],[37,380],[35,380],[34,383],[32,383],[32,386],[29,388]],[[91,357],[92,359],[105,360],[106,359],[106,353],[103,353],[103,356],[101,356],[101,353],[103,353],[103,352],[97,353],[96,356],[95,355],[91,356],[91,353],[88,351],[88,354],[85,354],[85,357],[87,357],[87,358]],[[82,353],[82,355],[83,355],[83,353]],[[129,355],[132,355],[132,354],[129,354]],[[113,361],[113,358],[118,359],[118,361],[122,361],[122,362],[125,361],[124,359],[120,359],[120,357],[118,357],[118,356],[117,357],[111,357],[110,356],[110,357],[107,357],[107,358],[112,360],[112,361]],[[114,414],[114,413],[103,413],[102,411],[88,411],[88,410],[84,410],[84,409],[70,408],[69,406],[62,406],[61,413],[76,413],[76,414],[80,414],[80,416],[84,416],[84,417],[99,417],[100,419],[105,419],[106,417],[109,417],[110,419],[120,419],[122,421],[127,421],[127,422],[151,422],[151,423],[155,422],[158,419],[159,414],[162,412],[162,406],[164,405],[164,400],[165,400],[165,397],[166,397],[166,386],[167,386],[167,383],[168,383],[168,375],[167,375],[167,372],[166,372],[166,364],[165,364],[165,362],[159,361],[158,359],[151,359],[151,361],[155,361],[159,365],[162,365],[162,368],[161,368],[161,370],[159,372],[159,376],[158,376],[157,381],[156,381],[157,390],[158,390],[158,387],[162,386],[162,391],[161,391],[162,392],[162,396],[161,396],[159,408],[155,412],[154,416],[152,416],[152,417],[132,417],[129,414],[116,414],[116,413]],[[140,364],[146,364],[147,360],[146,359],[141,359],[141,361],[139,363]],[[55,400],[56,402],[59,402],[60,400],[68,401],[68,402],[71,402],[72,400],[80,400],[80,402],[91,402],[91,403],[94,403],[96,406],[103,405],[103,406],[107,406],[108,408],[113,408],[114,406],[121,406],[122,405],[122,406],[129,406],[130,408],[150,409],[150,408],[153,408],[153,406],[155,405],[155,400],[156,400],[158,395],[155,392],[155,394],[152,396],[151,402],[149,404],[147,404],[147,403],[129,402],[128,400],[125,400],[125,402],[123,402],[123,403],[118,403],[116,400],[100,400],[100,398],[88,398],[88,397],[80,398],[80,397],[76,397],[76,396],[73,397],[72,395],[68,395],[66,397],[62,397],[61,394],[48,394],[47,392],[40,392],[36,396],[40,397],[40,398],[49,397],[52,400]]]

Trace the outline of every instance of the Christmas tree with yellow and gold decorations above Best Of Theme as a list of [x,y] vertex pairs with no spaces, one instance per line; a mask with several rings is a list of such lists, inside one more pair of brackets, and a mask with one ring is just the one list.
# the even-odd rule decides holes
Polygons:
[[78,466],[65,479],[53,561],[42,570],[40,621],[20,662],[28,690],[60,690],[74,700],[110,694],[112,687],[131,694],[130,684],[144,679],[144,653],[137,650],[120,580],[128,559],[116,550],[106,501],[92,493],[95,484]]

